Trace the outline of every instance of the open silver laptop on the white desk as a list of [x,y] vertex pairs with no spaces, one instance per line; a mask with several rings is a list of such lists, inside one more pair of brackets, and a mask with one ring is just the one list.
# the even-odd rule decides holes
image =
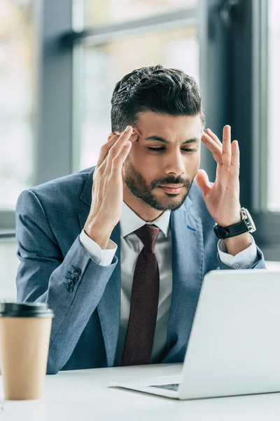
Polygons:
[[207,273],[181,375],[112,385],[182,400],[280,392],[280,272]]

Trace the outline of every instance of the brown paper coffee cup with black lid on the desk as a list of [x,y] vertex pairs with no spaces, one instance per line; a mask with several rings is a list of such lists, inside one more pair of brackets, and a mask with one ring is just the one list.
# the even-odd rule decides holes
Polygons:
[[41,398],[53,316],[47,304],[0,302],[4,399]]

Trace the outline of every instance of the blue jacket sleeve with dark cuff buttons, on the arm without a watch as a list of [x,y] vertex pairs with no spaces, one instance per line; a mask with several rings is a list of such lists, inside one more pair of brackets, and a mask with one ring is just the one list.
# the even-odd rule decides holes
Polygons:
[[54,374],[71,356],[118,259],[115,256],[109,266],[97,265],[79,236],[63,257],[43,206],[31,190],[22,192],[18,199],[16,236],[20,259],[18,301],[48,302],[55,313],[47,370]]

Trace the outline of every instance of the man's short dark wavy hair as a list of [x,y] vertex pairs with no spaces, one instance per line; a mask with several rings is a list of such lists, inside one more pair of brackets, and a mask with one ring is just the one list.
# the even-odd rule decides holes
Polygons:
[[137,123],[139,112],[196,116],[202,112],[200,89],[183,70],[162,65],[141,67],[125,75],[115,86],[111,100],[112,131],[124,131]]

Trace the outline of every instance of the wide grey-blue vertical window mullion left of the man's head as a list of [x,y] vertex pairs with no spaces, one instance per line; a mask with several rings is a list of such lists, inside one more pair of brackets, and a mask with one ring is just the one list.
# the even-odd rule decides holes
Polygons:
[[72,28],[72,0],[38,0],[38,97],[34,184],[71,173],[72,48],[60,37]]

